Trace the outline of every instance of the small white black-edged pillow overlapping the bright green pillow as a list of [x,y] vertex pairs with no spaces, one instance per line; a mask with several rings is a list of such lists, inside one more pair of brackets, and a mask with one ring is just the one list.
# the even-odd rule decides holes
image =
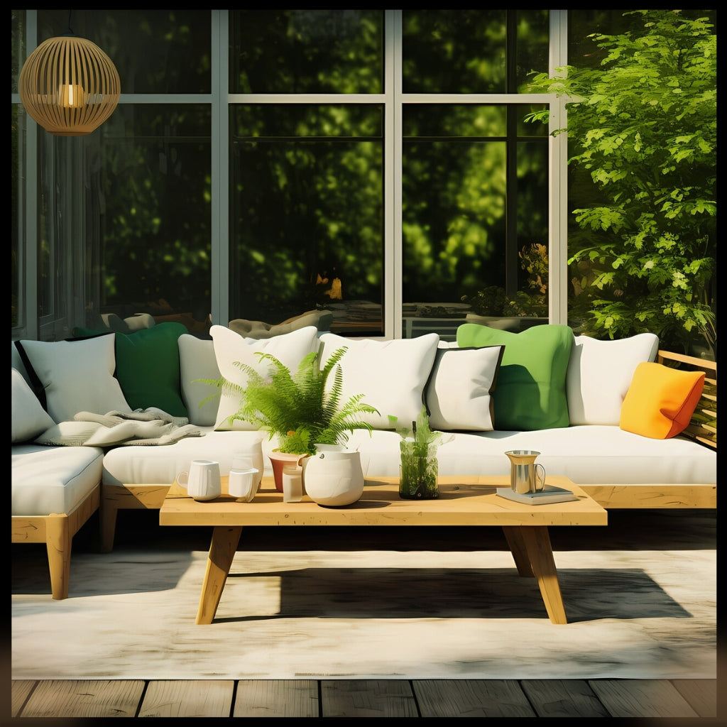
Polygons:
[[439,345],[426,390],[432,429],[489,432],[494,428],[492,392],[504,351],[505,346]]

